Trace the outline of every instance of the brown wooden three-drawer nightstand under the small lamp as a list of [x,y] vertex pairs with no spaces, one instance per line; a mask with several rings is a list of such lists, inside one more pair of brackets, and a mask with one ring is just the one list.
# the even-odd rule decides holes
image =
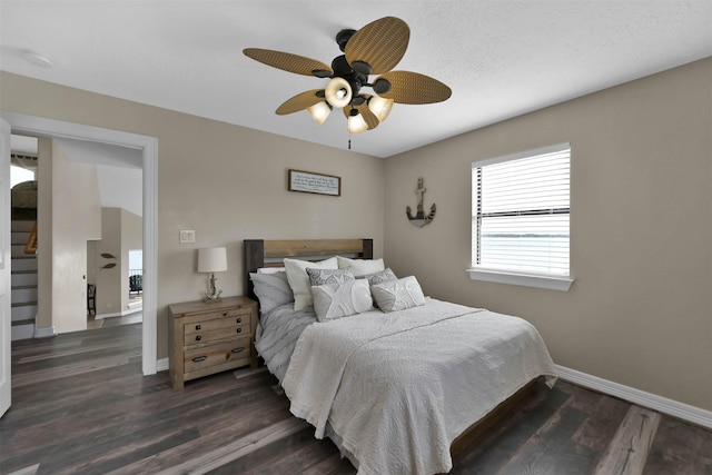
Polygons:
[[219,303],[168,306],[170,380],[182,389],[190,379],[250,365],[257,367],[257,303],[227,297]]

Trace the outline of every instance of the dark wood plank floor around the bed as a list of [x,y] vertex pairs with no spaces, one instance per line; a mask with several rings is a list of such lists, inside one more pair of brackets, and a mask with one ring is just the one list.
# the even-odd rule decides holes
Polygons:
[[[354,474],[263,368],[171,390],[141,326],[14,343],[2,474]],[[455,474],[712,474],[712,432],[565,382],[455,461]]]

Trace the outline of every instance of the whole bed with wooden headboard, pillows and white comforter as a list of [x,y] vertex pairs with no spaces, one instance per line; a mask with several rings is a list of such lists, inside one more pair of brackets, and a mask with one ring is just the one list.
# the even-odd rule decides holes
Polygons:
[[[309,269],[312,300],[295,266]],[[245,269],[259,356],[291,413],[359,474],[449,472],[537,379],[556,379],[531,324],[424,296],[373,259],[370,239],[246,240]]]

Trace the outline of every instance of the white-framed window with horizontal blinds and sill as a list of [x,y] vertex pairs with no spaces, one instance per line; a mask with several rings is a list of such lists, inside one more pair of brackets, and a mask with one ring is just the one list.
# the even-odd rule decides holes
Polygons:
[[567,290],[568,144],[472,165],[473,279]]

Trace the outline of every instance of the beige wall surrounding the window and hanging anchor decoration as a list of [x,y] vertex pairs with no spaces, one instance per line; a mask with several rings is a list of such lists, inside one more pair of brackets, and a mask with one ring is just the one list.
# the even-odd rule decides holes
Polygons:
[[[385,257],[530,319],[565,367],[712,409],[712,59],[386,160]],[[469,280],[471,164],[570,141],[568,293]],[[435,220],[418,229],[416,179]]]

